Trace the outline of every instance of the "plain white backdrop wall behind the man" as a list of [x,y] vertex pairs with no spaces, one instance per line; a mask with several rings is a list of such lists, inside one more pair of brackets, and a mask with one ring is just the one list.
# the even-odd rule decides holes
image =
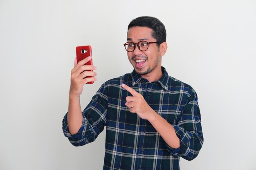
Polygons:
[[64,137],[75,47],[91,45],[98,81],[130,73],[129,22],[167,31],[162,65],[198,93],[204,144],[181,170],[256,169],[255,0],[0,0],[0,170],[100,170],[105,130],[74,147]]

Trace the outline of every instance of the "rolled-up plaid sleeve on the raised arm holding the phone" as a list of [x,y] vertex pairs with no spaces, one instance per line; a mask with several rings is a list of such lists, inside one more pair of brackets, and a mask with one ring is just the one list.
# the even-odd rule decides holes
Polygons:
[[108,90],[104,84],[99,88],[97,93],[92,97],[91,102],[83,110],[83,123],[79,131],[71,135],[67,124],[67,114],[62,121],[62,129],[65,137],[69,139],[74,146],[83,146],[94,141],[100,132],[106,126],[106,113],[108,107]]

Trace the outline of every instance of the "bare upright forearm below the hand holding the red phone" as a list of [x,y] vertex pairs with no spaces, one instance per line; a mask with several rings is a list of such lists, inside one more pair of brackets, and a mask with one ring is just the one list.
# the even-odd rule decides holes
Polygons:
[[80,105],[80,97],[69,97],[67,124],[71,135],[76,134],[82,126],[83,115]]

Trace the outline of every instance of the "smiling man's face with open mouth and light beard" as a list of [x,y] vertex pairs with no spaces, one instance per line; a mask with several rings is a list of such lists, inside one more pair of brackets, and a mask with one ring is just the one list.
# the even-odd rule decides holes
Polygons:
[[[152,37],[152,29],[146,26],[134,26],[127,32],[128,42],[138,43],[139,41],[156,42]],[[147,75],[148,73],[157,73],[161,71],[161,55],[157,44],[148,44],[148,50],[140,51],[137,44],[135,50],[127,52],[128,59],[134,67],[137,74]]]

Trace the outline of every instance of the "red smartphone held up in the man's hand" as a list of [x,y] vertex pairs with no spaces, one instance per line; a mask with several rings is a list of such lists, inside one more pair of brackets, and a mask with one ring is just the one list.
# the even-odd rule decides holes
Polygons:
[[[77,46],[76,47],[77,63],[89,56],[92,56],[92,47],[91,46],[87,45],[87,46]],[[92,59],[89,62],[85,63],[84,65],[89,65],[89,66],[92,65]],[[88,77],[93,77],[93,76],[88,76]],[[93,84],[93,82],[88,82],[86,84]]]

